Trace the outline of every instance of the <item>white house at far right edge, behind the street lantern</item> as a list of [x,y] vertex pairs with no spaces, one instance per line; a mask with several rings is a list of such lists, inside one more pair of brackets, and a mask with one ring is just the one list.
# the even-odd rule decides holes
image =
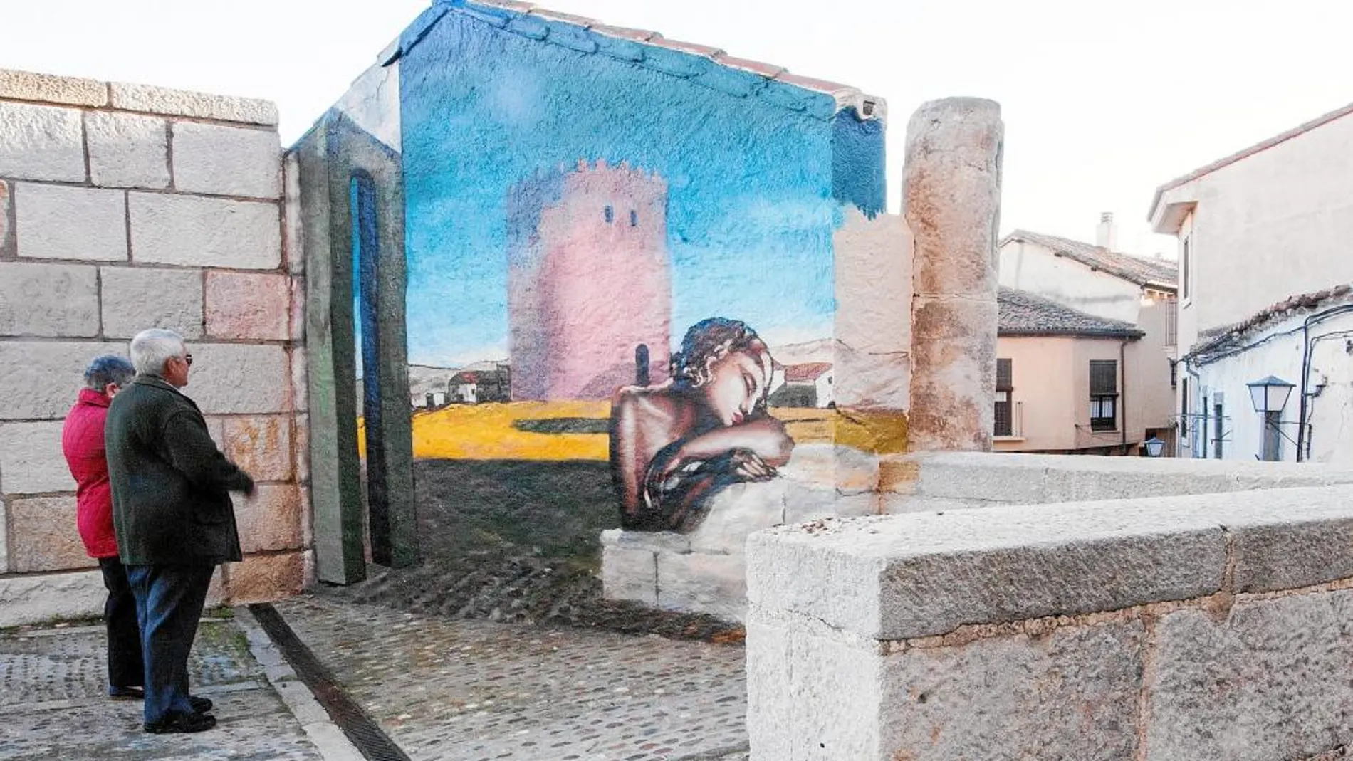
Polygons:
[[1181,451],[1353,460],[1353,104],[1161,185],[1149,219],[1178,239]]

